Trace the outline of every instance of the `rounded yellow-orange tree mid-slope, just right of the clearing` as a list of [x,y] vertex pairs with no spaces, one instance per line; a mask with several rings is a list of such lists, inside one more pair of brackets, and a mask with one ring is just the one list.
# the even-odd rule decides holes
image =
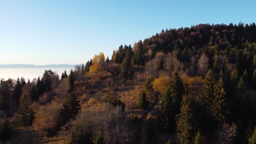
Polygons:
[[169,83],[170,77],[168,76],[159,77],[158,79],[155,79],[155,81],[153,82],[154,91],[160,92],[161,94],[164,93]]

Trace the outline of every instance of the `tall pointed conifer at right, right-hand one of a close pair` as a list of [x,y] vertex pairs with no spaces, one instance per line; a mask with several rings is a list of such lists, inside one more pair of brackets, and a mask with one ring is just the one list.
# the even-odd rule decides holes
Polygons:
[[216,83],[213,93],[214,99],[211,103],[211,113],[219,124],[223,124],[226,121],[225,94],[224,82],[220,77],[218,83]]

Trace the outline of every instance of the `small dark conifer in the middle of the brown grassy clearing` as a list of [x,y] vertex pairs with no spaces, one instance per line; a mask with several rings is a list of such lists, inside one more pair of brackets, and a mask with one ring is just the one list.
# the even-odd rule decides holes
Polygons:
[[111,81],[105,97],[105,102],[107,104],[110,104],[113,107],[121,106],[122,109],[125,108],[124,103],[120,100],[120,95],[117,93],[117,85],[115,85],[114,81]]

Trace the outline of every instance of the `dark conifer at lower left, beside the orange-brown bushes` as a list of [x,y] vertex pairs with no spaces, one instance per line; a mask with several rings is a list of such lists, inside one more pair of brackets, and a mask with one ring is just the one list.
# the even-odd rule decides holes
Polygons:
[[18,125],[20,127],[29,127],[33,121],[33,110],[30,105],[30,98],[26,94],[21,95],[20,106],[18,109]]

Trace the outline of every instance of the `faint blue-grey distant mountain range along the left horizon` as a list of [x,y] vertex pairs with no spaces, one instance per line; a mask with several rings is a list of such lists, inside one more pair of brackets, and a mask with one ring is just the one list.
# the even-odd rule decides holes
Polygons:
[[34,64],[0,64],[0,68],[72,68],[73,64],[47,64],[47,65],[34,65]]

